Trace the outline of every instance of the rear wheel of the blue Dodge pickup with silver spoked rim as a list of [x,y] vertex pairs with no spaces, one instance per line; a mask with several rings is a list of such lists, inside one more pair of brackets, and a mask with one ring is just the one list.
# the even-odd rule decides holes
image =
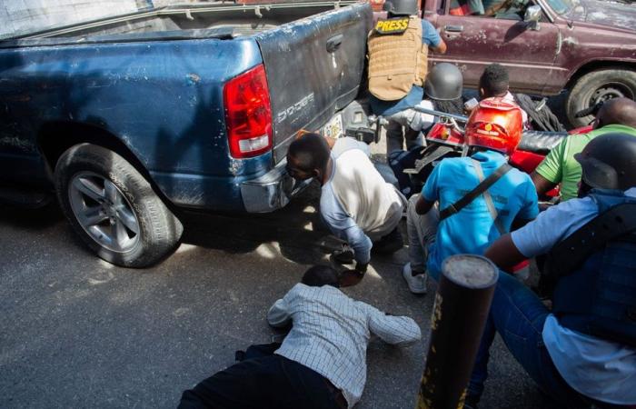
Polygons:
[[144,176],[101,146],[68,149],[55,165],[55,188],[75,232],[109,263],[155,264],[174,251],[183,233]]

